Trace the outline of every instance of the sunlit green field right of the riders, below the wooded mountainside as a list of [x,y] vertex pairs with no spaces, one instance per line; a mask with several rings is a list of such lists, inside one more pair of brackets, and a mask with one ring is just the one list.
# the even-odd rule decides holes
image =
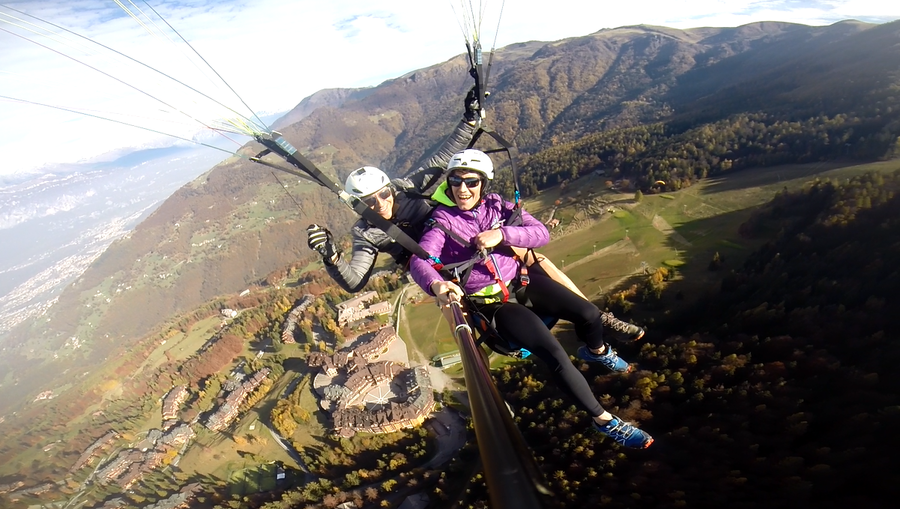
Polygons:
[[[677,267],[679,290],[688,295],[721,277],[707,268],[716,252],[726,258],[727,269],[740,266],[743,258],[756,249],[762,240],[741,238],[738,227],[777,192],[800,189],[814,178],[844,180],[866,171],[897,169],[900,169],[898,161],[856,166],[815,163],[743,170],[665,195],[645,195],[640,203],[627,207],[623,213],[616,212],[614,217],[601,218],[590,228],[554,239],[540,251],[557,266],[563,261],[567,267],[572,266],[587,258],[594,245],[600,250],[623,239],[627,228],[628,238],[636,249],[633,256],[623,255],[619,250],[603,255],[600,260],[583,262],[571,269],[561,268],[586,294],[596,296],[601,288],[603,293],[612,289],[610,285],[616,276],[620,282],[628,281],[624,278],[636,273],[640,262],[646,262],[650,268]],[[654,226],[655,216],[662,218],[672,229],[657,228],[659,220]],[[683,305],[665,304],[671,312]]]

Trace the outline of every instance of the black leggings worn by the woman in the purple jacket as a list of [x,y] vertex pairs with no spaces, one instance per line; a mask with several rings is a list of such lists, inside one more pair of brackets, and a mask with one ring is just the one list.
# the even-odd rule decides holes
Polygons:
[[507,302],[482,306],[480,311],[493,320],[497,332],[507,341],[528,349],[550,368],[559,386],[568,392],[586,412],[594,417],[603,413],[603,407],[594,397],[584,376],[569,360],[569,354],[553,337],[538,316],[554,316],[572,322],[578,338],[590,348],[603,343],[603,324],[600,310],[565,286],[542,274],[531,274],[525,288],[525,296],[533,308]]

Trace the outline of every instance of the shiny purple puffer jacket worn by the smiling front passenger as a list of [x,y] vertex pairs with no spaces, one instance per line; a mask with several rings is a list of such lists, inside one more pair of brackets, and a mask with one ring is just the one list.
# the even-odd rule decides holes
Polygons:
[[[471,242],[479,233],[490,230],[494,225],[503,224],[512,215],[513,207],[512,203],[504,201],[500,195],[489,194],[472,210],[462,211],[456,207],[438,205],[431,217],[448,230]],[[531,214],[522,211],[522,221],[521,226],[500,227],[503,241],[499,245],[534,248],[550,241],[550,232]],[[466,261],[475,255],[474,247],[460,244],[439,228],[426,230],[419,244],[428,254],[437,256],[444,264]],[[494,250],[493,253],[503,281],[509,282],[519,275],[519,262],[515,258],[502,250]],[[418,256],[412,257],[409,272],[429,295],[432,283],[444,279],[434,270],[430,261]],[[472,267],[472,274],[464,290],[467,294],[475,293],[495,282],[494,276],[484,263],[480,262]]]

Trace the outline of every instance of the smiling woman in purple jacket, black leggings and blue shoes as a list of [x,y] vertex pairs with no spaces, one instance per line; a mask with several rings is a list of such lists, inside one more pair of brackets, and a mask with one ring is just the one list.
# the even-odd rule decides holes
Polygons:
[[[560,387],[591,415],[597,431],[627,447],[649,447],[653,443],[649,434],[600,406],[584,376],[538,316],[572,322],[578,338],[585,343],[578,349],[578,357],[626,373],[630,371],[628,363],[603,341],[600,310],[542,274],[529,274],[528,284],[517,288],[521,267],[508,247],[543,246],[550,238],[546,227],[524,211],[520,225],[505,224],[514,205],[497,194],[485,194],[485,186],[494,177],[493,163],[487,154],[473,149],[458,152],[450,159],[447,172],[446,182],[433,196],[441,204],[432,214],[434,224],[423,234],[421,246],[445,265],[474,259],[481,250],[492,251],[475,263],[462,288],[445,281],[430,260],[413,256],[410,272],[416,283],[442,306],[450,299],[470,296],[470,302],[495,324],[502,337],[528,349],[547,364]],[[486,264],[488,259],[492,263]],[[504,292],[500,285],[509,290]],[[517,289],[521,291],[517,293]],[[527,302],[529,307],[503,298],[516,293],[516,299]]]

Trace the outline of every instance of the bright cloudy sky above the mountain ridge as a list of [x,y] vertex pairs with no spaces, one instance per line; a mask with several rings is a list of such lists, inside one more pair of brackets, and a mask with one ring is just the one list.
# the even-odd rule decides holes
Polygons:
[[119,3],[133,16],[113,0],[0,4],[0,177],[109,160],[173,136],[235,150],[241,140],[216,134],[213,120],[253,120],[324,88],[373,86],[446,61],[465,51],[472,6],[485,49],[637,24],[900,19],[900,2],[884,0],[151,1],[159,16],[143,0]]

